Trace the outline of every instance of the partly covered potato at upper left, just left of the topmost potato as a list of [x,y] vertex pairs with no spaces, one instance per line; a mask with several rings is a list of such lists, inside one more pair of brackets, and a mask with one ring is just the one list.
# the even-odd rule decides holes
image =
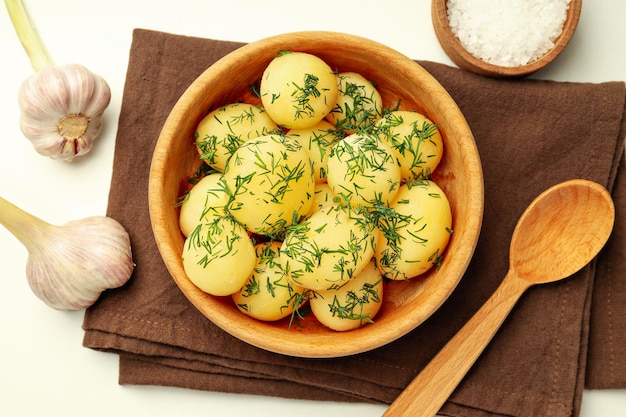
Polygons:
[[196,128],[196,148],[200,159],[217,171],[248,139],[276,131],[277,125],[261,106],[232,103],[213,110]]

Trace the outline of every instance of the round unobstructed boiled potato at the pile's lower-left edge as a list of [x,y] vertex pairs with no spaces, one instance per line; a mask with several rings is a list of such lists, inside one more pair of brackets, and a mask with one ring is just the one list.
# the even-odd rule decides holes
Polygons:
[[225,296],[239,291],[254,269],[254,244],[230,217],[203,223],[187,236],[182,253],[185,273],[202,291]]

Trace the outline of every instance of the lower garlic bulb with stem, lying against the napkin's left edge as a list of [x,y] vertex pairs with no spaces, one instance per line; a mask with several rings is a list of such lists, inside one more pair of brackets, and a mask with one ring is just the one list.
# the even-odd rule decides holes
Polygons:
[[49,224],[0,197],[0,224],[28,250],[26,277],[37,297],[57,310],[80,310],[124,285],[134,269],[130,238],[111,217]]

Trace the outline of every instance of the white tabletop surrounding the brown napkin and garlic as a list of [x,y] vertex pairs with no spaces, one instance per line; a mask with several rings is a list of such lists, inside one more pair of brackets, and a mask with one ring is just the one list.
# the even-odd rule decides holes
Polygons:
[[[58,64],[78,62],[111,86],[106,127],[71,164],[37,154],[18,128],[17,90],[32,69],[0,6],[0,195],[56,224],[104,214],[133,28],[251,42],[283,32],[334,30],[415,58],[451,64],[427,0],[24,0]],[[585,0],[572,43],[537,78],[626,79],[626,2]],[[120,386],[118,358],[82,347],[83,312],[39,301],[26,251],[0,227],[0,416],[381,416],[382,405],[297,401],[150,386]],[[622,329],[626,331],[626,329]],[[626,416],[626,390],[586,391],[583,417]]]

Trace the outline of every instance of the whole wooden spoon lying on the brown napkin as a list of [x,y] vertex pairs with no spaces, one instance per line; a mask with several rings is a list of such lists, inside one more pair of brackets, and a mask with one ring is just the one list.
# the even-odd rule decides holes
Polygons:
[[613,229],[615,208],[604,187],[571,180],[544,191],[519,219],[500,286],[415,377],[386,417],[434,416],[530,286],[567,278],[587,265]]

